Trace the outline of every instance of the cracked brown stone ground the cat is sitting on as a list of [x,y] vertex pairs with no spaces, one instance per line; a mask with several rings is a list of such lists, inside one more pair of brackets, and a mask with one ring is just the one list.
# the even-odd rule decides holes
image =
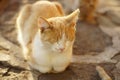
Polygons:
[[111,12],[99,17],[99,25],[78,21],[73,51],[77,58],[73,57],[76,60],[66,71],[41,74],[31,70],[16,40],[15,20],[20,7],[33,2],[35,0],[12,0],[0,15],[0,80],[101,80],[95,70],[97,65],[113,80],[120,80],[120,20],[116,16],[119,14]]

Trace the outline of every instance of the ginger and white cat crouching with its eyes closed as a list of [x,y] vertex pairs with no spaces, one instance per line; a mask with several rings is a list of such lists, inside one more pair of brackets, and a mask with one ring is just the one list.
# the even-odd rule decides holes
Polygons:
[[18,41],[29,65],[41,73],[62,72],[70,64],[79,9],[64,16],[57,2],[25,5],[17,18]]

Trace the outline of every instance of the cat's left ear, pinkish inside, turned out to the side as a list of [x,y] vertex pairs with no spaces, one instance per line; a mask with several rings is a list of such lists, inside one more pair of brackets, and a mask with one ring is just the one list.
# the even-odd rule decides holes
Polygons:
[[44,32],[46,29],[49,28],[49,22],[46,19],[40,17],[38,18],[38,27],[41,32]]

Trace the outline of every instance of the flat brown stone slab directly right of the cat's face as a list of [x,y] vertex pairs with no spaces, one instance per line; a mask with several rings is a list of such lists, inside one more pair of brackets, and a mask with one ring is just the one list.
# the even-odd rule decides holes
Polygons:
[[74,54],[96,54],[96,52],[103,52],[110,45],[112,45],[112,38],[105,34],[98,25],[78,22]]

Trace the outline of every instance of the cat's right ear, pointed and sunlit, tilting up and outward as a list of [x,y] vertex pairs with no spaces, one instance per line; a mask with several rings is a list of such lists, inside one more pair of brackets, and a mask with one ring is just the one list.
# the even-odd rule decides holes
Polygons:
[[67,23],[76,23],[77,20],[78,20],[78,17],[79,17],[79,13],[80,13],[80,10],[77,9],[75,10],[74,12],[72,12],[71,14],[69,14],[68,16],[65,17],[65,20],[67,21]]

